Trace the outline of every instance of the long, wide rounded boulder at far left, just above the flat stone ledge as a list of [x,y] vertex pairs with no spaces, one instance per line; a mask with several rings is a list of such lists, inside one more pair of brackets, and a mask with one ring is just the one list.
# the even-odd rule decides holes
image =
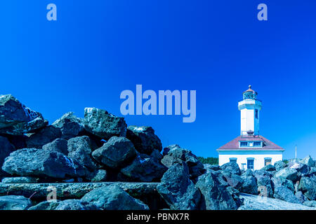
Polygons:
[[49,176],[56,179],[86,174],[83,167],[62,153],[37,148],[23,148],[11,153],[4,161],[2,169],[9,174]]

